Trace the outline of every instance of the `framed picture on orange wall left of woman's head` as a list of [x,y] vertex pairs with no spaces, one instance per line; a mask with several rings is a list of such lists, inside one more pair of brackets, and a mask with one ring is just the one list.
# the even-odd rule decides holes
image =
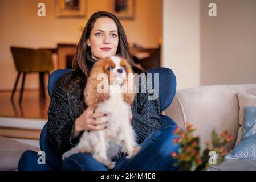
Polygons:
[[86,0],[55,0],[55,13],[58,18],[84,18]]

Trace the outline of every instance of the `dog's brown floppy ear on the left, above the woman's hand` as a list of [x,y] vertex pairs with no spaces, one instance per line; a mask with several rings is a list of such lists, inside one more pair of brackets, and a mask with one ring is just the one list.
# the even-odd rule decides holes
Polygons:
[[97,92],[97,85],[100,83],[100,80],[97,80],[97,76],[100,73],[104,73],[103,65],[104,64],[101,61],[98,61],[94,63],[94,66],[92,67],[86,88],[84,89],[84,100],[86,101],[87,106],[98,104],[99,102],[103,102],[109,98],[109,92]]

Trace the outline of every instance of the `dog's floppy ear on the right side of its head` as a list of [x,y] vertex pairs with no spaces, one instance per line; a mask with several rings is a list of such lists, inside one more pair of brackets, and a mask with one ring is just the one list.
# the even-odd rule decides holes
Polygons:
[[133,104],[133,101],[135,100],[135,78],[133,76],[133,71],[131,66],[127,63],[126,60],[124,61],[123,64],[125,65],[126,69],[126,81],[123,85],[123,98],[124,101],[127,102],[128,104]]

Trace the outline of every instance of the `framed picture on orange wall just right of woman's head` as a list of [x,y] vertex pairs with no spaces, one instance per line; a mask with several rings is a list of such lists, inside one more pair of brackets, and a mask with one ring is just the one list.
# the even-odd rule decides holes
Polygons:
[[119,19],[134,19],[135,0],[111,0],[111,11]]

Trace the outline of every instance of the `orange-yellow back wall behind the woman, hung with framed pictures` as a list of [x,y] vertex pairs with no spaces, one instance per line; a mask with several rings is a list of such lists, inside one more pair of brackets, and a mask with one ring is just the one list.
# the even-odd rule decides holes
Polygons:
[[[46,17],[37,16],[37,5],[40,2],[46,5]],[[95,11],[110,10],[111,0],[86,2],[86,18],[56,18],[54,0],[0,1],[0,90],[13,89],[17,77],[10,52],[11,45],[55,48],[57,43],[78,43],[81,27],[90,16]],[[135,19],[121,20],[128,41],[131,44],[156,48],[158,39],[162,36],[162,1],[135,2]],[[25,89],[35,89],[38,86],[38,75],[31,74],[26,77]]]

